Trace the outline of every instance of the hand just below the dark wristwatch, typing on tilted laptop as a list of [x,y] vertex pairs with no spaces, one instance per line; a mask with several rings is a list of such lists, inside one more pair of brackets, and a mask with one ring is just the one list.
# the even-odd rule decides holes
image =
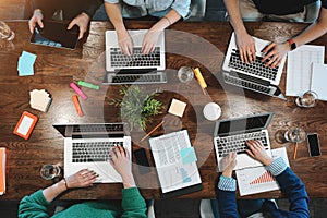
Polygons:
[[267,66],[276,68],[280,64],[282,58],[289,50],[290,49],[288,43],[284,44],[271,43],[262,51],[266,53],[262,62],[265,62],[266,60],[270,59],[266,63],[266,68]]

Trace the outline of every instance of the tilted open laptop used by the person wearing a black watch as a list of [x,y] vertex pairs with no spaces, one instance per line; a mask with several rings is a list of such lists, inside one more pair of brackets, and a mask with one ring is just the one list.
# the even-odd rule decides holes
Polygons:
[[270,41],[253,37],[255,40],[256,59],[252,63],[242,62],[240,52],[235,43],[235,34],[233,33],[228,46],[227,55],[222,64],[223,80],[226,83],[251,89],[257,93],[284,98],[277,87],[286,57],[277,68],[266,68],[266,62],[262,62],[264,53],[262,50],[267,47]]

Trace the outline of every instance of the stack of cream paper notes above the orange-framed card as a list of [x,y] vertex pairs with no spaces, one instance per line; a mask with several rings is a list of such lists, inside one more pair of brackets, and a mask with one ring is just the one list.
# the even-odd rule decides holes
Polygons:
[[31,100],[29,105],[31,108],[40,110],[43,112],[47,112],[51,102],[52,98],[50,94],[45,89],[34,89],[29,92]]

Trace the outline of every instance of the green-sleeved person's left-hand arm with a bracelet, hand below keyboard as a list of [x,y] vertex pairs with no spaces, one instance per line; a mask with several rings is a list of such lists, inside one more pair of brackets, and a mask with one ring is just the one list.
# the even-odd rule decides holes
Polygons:
[[66,189],[86,187],[95,182],[97,174],[89,170],[81,170],[75,174],[60,180],[58,183],[25,196],[19,206],[19,217],[49,217],[47,207]]

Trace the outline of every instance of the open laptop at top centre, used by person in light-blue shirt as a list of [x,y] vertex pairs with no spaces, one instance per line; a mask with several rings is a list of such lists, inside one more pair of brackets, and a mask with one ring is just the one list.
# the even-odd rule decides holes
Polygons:
[[133,55],[120,51],[116,31],[106,31],[105,84],[166,83],[165,32],[159,35],[155,50],[143,55],[142,43],[148,29],[129,31],[133,40]]

